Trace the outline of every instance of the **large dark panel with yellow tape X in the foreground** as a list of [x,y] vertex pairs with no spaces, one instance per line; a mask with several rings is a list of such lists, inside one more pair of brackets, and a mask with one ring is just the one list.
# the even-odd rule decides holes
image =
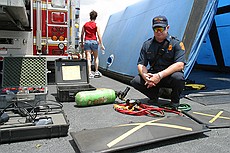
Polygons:
[[209,131],[206,126],[186,116],[173,116],[70,134],[80,152],[86,153],[118,151],[205,131]]

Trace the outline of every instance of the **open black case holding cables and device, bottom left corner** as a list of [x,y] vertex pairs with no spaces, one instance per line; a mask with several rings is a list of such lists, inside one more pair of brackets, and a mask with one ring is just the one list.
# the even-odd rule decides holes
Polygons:
[[68,135],[69,122],[61,110],[46,114],[38,112],[34,122],[26,122],[27,117],[11,111],[6,113],[9,121],[0,125],[0,144]]

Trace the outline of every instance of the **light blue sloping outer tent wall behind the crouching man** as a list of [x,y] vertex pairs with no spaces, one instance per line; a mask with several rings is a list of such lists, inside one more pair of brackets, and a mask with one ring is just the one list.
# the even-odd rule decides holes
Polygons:
[[[157,15],[165,15],[169,20],[169,33],[183,40],[186,37],[185,31],[189,28],[187,25],[191,13],[194,12],[195,2],[199,3],[199,0],[143,0],[111,15],[103,34],[106,52],[104,55],[99,55],[99,66],[119,74],[137,75],[137,60],[141,46],[145,40],[153,37],[152,18]],[[197,27],[198,30],[194,31],[196,36],[189,40],[192,47],[188,50],[190,54],[185,68],[186,78],[197,59],[202,42],[210,30],[218,0],[207,0],[205,4],[202,18],[197,20],[200,23]],[[111,55],[114,60],[108,67],[107,60]]]

